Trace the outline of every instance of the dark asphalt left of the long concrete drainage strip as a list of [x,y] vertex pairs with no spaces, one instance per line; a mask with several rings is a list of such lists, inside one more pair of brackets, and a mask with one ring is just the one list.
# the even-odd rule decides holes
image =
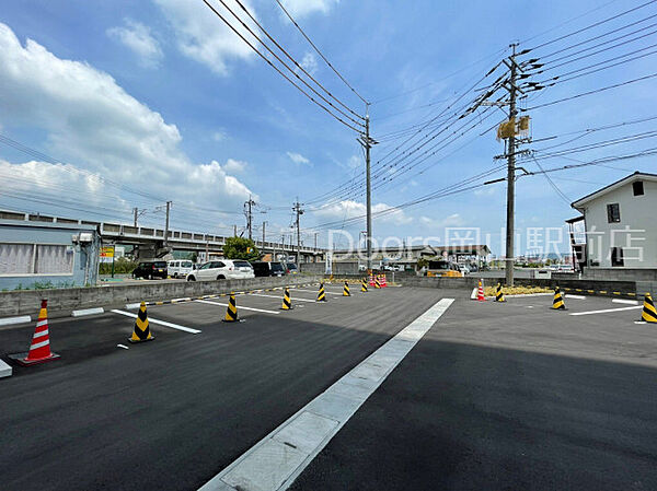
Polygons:
[[[0,381],[0,489],[197,489],[441,296],[327,290],[326,304],[292,290],[285,313],[280,291],[240,295],[245,322],[230,325],[224,306],[151,307],[155,340],[140,344],[123,315],[51,320],[61,359]],[[33,330],[0,330],[0,354],[25,351]]]

